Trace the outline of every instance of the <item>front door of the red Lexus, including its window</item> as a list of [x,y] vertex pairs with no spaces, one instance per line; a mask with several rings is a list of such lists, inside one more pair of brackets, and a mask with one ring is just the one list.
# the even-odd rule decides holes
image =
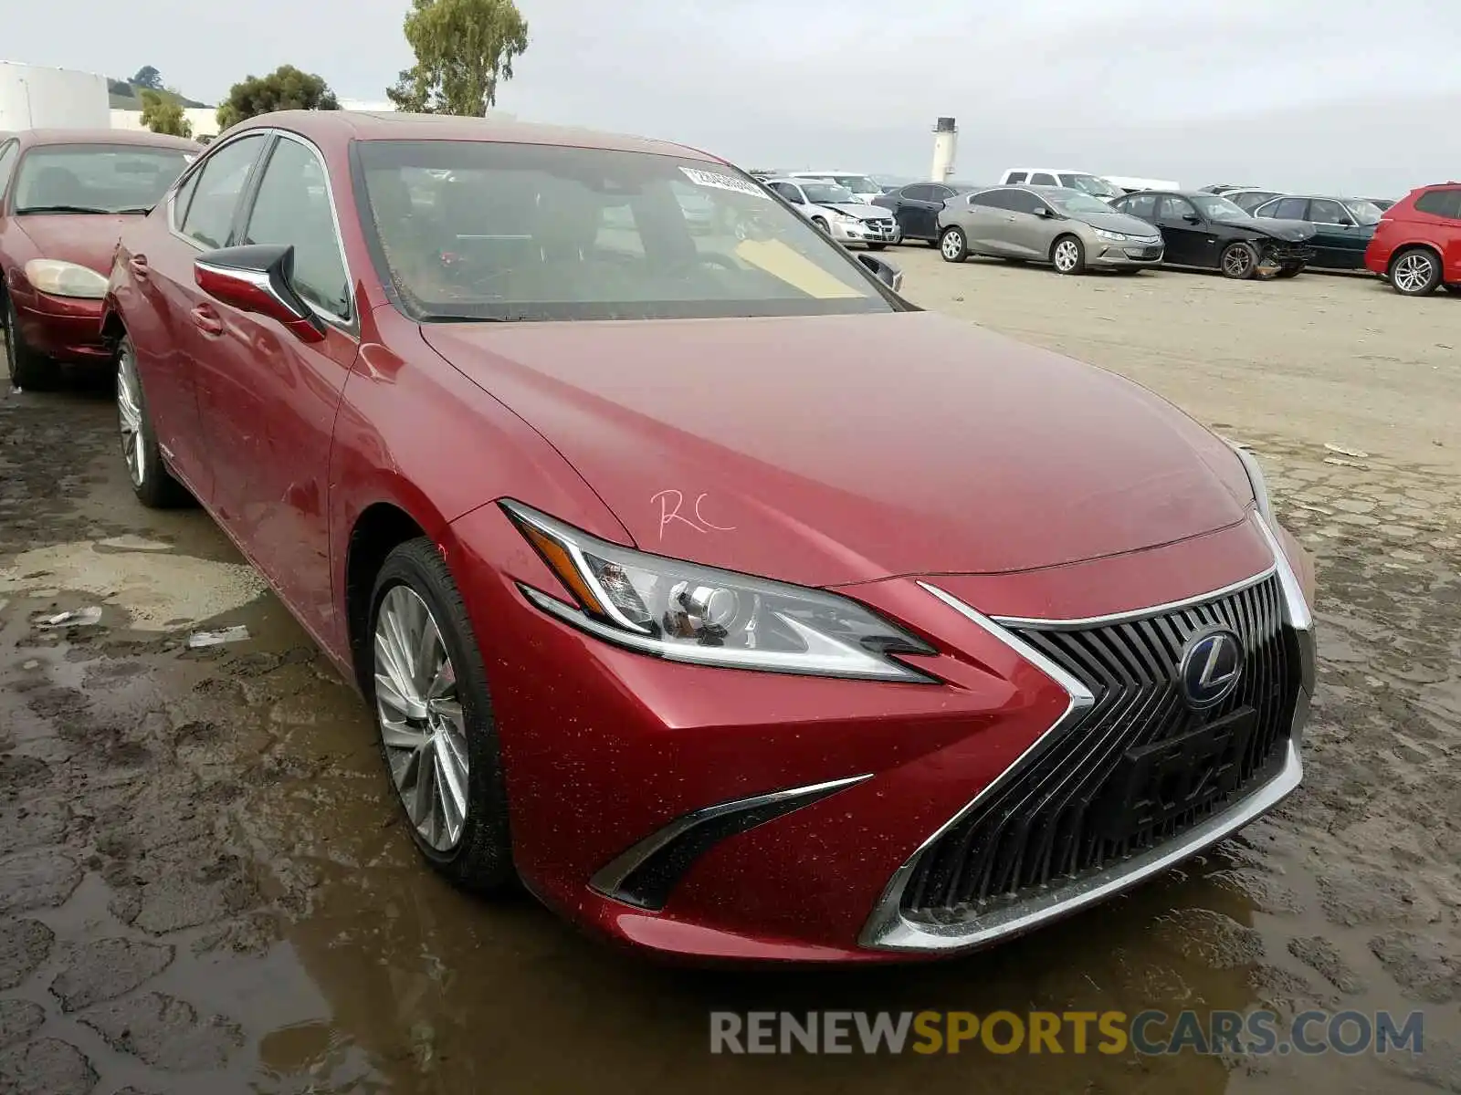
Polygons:
[[330,444],[359,340],[330,178],[314,146],[276,133],[245,207],[238,242],[294,247],[294,288],[324,339],[301,342],[276,320],[210,302],[212,368],[200,372],[199,394],[216,445],[216,507],[305,623],[329,635]]

